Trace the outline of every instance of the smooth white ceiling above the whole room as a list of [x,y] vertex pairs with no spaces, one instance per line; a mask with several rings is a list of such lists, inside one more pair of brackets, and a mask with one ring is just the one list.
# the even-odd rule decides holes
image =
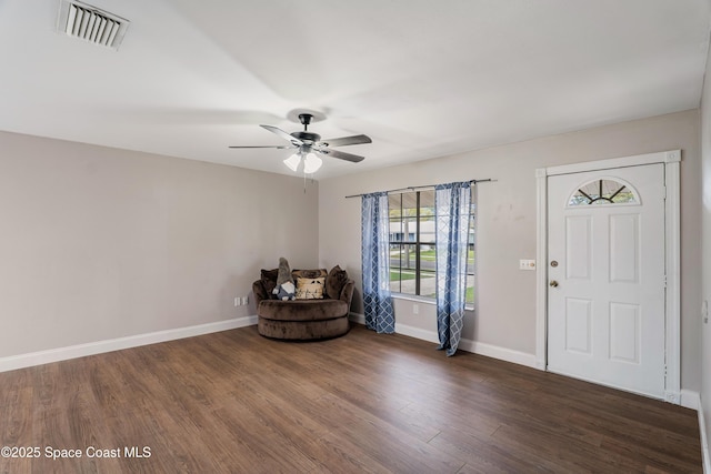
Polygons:
[[699,107],[709,0],[88,0],[119,51],[0,0],[0,130],[292,174],[310,131],[364,133],[317,179]]

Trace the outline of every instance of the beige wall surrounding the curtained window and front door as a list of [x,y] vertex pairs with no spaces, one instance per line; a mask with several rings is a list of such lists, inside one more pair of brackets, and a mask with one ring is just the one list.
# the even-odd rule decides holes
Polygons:
[[[673,149],[682,150],[682,387],[698,391],[701,291],[698,110],[322,180],[319,256],[322,263],[346,266],[360,285],[360,200],[344,199],[346,195],[494,179],[495,182],[477,186],[479,306],[477,314],[467,314],[462,337],[532,355],[535,272],[520,271],[518,265],[519,259],[535,258],[535,169]],[[397,302],[398,323],[433,331],[434,306],[417,303],[415,315],[413,304]],[[353,310],[362,313],[360,301]]]

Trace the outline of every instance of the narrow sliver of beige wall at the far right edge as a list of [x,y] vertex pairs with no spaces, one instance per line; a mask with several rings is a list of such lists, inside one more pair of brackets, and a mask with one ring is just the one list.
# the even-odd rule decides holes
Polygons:
[[[707,60],[707,74],[701,101],[701,192],[703,243],[703,278],[701,300],[711,304],[711,56]],[[701,324],[701,410],[705,420],[707,441],[711,436],[711,323]],[[708,452],[707,452],[708,453]],[[711,461],[707,460],[707,468]]]

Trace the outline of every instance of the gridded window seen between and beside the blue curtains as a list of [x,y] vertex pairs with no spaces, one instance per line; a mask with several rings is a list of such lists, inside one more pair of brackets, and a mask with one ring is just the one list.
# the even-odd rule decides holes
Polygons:
[[[473,186],[472,186],[473,190]],[[388,196],[390,219],[390,290],[435,297],[434,190]],[[474,302],[474,204],[469,220],[467,304]]]

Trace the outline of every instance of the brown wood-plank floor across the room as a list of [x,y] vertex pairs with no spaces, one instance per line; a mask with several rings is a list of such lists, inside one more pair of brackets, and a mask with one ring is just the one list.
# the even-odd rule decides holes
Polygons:
[[251,326],[6,372],[0,411],[1,446],[40,448],[0,457],[13,474],[702,471],[691,410],[362,326],[316,343]]

